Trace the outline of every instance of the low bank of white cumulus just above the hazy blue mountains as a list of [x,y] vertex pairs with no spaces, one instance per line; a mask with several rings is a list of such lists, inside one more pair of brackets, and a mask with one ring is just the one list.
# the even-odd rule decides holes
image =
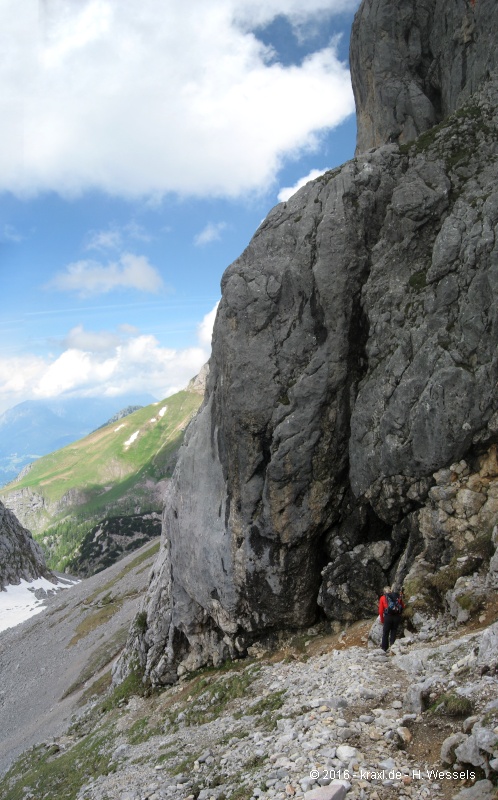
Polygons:
[[0,357],[0,412],[22,400],[143,393],[161,400],[184,389],[209,358],[217,305],[197,327],[198,344],[182,349],[166,347],[155,336],[133,326],[117,333],[69,331],[58,356]]

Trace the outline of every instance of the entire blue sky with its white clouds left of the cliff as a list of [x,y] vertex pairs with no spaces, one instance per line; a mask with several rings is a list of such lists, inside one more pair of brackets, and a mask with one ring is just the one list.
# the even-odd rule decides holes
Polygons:
[[0,413],[196,374],[224,269],[353,156],[358,5],[2,0]]

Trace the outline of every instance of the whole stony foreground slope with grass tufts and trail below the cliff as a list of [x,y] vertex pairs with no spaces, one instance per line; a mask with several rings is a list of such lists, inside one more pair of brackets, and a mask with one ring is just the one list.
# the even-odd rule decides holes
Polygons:
[[0,795],[491,800],[496,606],[493,595],[467,626],[427,617],[388,655],[371,621],[324,623],[149,696],[131,677],[113,690],[93,676],[71,726],[25,754]]

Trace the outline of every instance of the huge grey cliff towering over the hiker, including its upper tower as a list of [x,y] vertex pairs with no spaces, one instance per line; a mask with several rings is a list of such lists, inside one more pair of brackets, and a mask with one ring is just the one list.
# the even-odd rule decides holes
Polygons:
[[[385,582],[491,539],[498,80],[485,46],[498,7],[459,0],[436,20],[442,5],[364,0],[352,40],[359,149],[380,146],[274,208],[223,276],[206,399],[166,502],[147,624],[118,675],[138,663],[169,682],[308,625],[319,608],[370,616]],[[437,58],[437,102],[426,94],[408,109],[379,88],[406,47],[420,81]],[[398,106],[394,138],[427,131],[411,146],[388,141]],[[463,458],[479,487],[460,479]],[[458,524],[444,517],[452,483]]]

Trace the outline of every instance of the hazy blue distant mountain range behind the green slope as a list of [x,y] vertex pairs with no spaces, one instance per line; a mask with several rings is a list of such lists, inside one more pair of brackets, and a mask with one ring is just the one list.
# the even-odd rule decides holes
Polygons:
[[40,456],[59,450],[118,415],[154,402],[149,394],[26,400],[0,415],[0,486]]

